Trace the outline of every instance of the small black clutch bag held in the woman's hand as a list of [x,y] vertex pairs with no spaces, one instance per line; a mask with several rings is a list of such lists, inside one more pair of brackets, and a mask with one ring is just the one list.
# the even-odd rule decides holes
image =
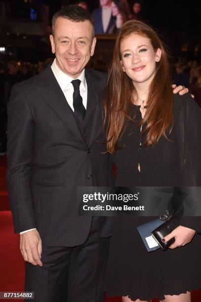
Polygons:
[[173,211],[172,214],[169,214],[169,211],[167,211],[167,213],[167,215],[161,215],[160,217],[164,223],[151,232],[152,237],[157,241],[163,251],[168,249],[168,247],[174,243],[175,238],[173,237],[167,242],[162,242],[162,238],[171,233],[180,225],[179,217],[173,216]]

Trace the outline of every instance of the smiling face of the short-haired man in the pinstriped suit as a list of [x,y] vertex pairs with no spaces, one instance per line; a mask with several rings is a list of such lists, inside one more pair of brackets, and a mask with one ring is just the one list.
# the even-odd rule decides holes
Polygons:
[[73,22],[59,17],[50,42],[60,70],[78,78],[94,53],[96,38],[92,38],[92,25],[88,20]]

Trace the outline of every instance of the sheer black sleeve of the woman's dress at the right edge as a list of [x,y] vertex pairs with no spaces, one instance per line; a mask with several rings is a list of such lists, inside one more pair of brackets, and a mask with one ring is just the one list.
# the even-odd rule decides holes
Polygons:
[[[200,189],[196,187],[201,187],[201,108],[188,94],[184,104],[186,186],[195,191],[193,202],[200,207],[201,196],[197,193]],[[201,233],[201,216],[181,217],[181,225]]]

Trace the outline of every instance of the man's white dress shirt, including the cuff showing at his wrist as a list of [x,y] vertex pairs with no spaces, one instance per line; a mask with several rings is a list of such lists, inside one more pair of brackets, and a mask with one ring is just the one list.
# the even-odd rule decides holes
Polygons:
[[[65,74],[64,72],[62,72],[59,67],[57,66],[56,63],[56,59],[54,59],[52,65],[51,65],[51,69],[52,72],[59,84],[59,86],[61,87],[61,90],[63,91],[66,101],[68,102],[69,106],[71,107],[71,109],[74,111],[74,107],[73,107],[73,93],[74,93],[74,88],[73,88],[73,84],[71,83],[72,80],[74,80],[75,78],[68,76],[67,74]],[[82,71],[82,73],[80,74],[80,76],[78,77],[78,79],[80,79],[80,96],[82,97],[82,103],[84,108],[86,109],[86,104],[87,104],[87,84],[86,84],[86,80],[85,80],[85,72],[84,70]],[[23,232],[20,232],[20,235],[23,233],[26,233],[30,230],[33,230],[36,228],[31,228],[31,229],[27,229]]]

